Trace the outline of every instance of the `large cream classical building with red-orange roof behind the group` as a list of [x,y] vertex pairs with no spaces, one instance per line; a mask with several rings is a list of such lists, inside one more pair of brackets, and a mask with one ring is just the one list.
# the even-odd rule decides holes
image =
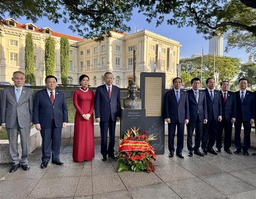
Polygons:
[[55,76],[61,84],[60,37],[69,39],[69,77],[68,84],[78,84],[79,76],[90,77],[93,87],[104,84],[103,75],[110,71],[114,74],[114,84],[126,88],[133,79],[133,51],[137,54],[137,83],[140,84],[141,72],[166,73],[166,88],[172,85],[177,76],[180,47],[178,41],[161,36],[148,30],[126,34],[112,32],[112,36],[101,42],[82,39],[54,32],[51,28],[37,28],[32,23],[19,24],[12,18],[6,19],[10,27],[5,27],[0,37],[0,81],[11,81],[12,73],[25,71],[25,36],[32,33],[36,84],[44,85],[45,39],[51,35],[56,42]]

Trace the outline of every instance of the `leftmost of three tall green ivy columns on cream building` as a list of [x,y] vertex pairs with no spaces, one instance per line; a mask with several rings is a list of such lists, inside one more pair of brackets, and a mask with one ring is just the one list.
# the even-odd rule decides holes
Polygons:
[[27,33],[25,40],[25,75],[26,83],[36,85],[35,82],[35,63],[34,63],[34,46],[31,33]]

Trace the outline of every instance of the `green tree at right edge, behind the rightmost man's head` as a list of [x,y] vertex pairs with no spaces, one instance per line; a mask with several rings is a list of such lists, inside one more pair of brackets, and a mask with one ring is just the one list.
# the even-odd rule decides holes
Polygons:
[[240,73],[238,78],[247,78],[249,86],[256,84],[256,64],[255,63],[244,63],[241,65]]

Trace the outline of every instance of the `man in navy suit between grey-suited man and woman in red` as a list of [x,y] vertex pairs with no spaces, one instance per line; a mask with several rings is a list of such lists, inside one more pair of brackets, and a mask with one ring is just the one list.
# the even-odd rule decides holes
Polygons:
[[57,78],[48,75],[45,78],[46,88],[35,93],[33,121],[35,128],[42,136],[41,169],[52,163],[62,165],[60,161],[61,131],[66,128],[68,111],[65,95],[56,89]]

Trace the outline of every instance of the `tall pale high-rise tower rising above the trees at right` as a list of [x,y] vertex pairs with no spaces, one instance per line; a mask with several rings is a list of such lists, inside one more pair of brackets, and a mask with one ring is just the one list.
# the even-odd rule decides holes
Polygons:
[[209,40],[209,55],[223,56],[223,36],[213,36]]

